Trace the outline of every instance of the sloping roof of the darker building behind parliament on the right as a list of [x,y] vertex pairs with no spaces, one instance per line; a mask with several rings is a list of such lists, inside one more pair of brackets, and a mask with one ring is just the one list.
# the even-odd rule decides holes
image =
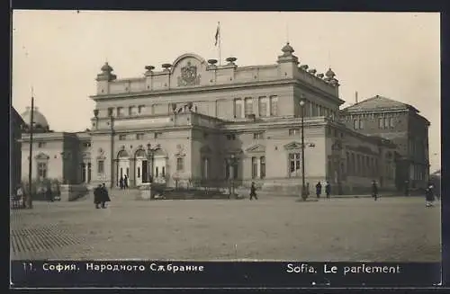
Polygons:
[[393,111],[393,110],[412,110],[419,113],[419,111],[410,104],[399,102],[390,98],[376,95],[372,98],[357,102],[351,106],[343,109],[348,112],[359,111]]

